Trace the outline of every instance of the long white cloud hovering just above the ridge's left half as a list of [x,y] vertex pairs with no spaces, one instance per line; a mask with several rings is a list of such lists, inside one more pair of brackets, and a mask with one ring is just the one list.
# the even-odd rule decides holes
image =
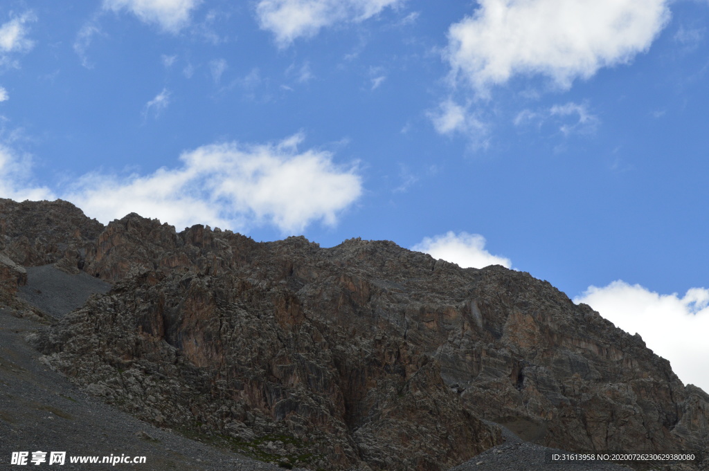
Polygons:
[[361,178],[354,168],[336,166],[328,152],[298,152],[302,140],[206,145],[182,154],[176,169],[127,178],[87,174],[62,198],[102,222],[138,212],[178,229],[266,223],[293,234],[316,221],[334,225],[361,195]]

